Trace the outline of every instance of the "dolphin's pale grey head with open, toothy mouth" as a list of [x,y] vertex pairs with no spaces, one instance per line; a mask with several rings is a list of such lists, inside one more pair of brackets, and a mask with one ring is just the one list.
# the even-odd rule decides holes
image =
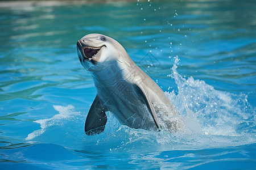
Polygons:
[[88,71],[102,70],[117,61],[122,62],[123,53],[126,51],[122,45],[105,35],[91,33],[77,41],[77,54]]

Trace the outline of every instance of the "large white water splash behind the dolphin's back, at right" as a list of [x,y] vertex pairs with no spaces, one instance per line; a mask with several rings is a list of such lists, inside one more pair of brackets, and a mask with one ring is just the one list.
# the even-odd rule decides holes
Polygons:
[[[240,136],[242,132],[255,132],[255,109],[247,102],[247,95],[217,91],[192,76],[185,79],[177,72],[178,64],[179,58],[176,56],[172,78],[177,84],[178,94],[172,91],[167,96],[180,113],[188,113],[188,108],[191,109],[191,114],[195,113],[193,117],[198,118],[204,134]],[[245,123],[254,127],[241,129],[240,125]]]

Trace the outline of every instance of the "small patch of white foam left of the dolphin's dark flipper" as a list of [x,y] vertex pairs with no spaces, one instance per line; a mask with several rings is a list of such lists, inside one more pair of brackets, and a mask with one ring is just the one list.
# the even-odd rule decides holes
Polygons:
[[63,107],[60,105],[53,105],[53,108],[56,111],[58,111],[59,114],[55,114],[51,118],[40,119],[40,120],[34,121],[34,122],[40,124],[41,129],[35,130],[32,133],[28,134],[26,140],[34,139],[35,137],[38,137],[39,135],[43,134],[46,131],[46,129],[49,128],[49,126],[61,125],[61,124],[63,124],[63,120],[73,117],[78,114],[78,112],[73,111],[73,109],[75,109],[75,107],[73,107],[73,105],[68,105],[67,107]]

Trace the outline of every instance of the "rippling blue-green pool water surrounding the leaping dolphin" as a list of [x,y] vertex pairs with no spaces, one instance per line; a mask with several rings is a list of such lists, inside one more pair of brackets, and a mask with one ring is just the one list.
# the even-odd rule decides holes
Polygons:
[[[254,1],[171,1],[0,10],[1,169],[254,169]],[[184,131],[119,124],[87,136],[96,95],[76,41],[103,33],[166,91]]]

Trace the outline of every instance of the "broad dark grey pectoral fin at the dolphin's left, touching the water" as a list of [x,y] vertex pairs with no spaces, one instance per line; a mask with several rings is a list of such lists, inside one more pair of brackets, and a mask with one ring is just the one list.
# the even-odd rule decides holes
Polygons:
[[95,97],[85,121],[86,135],[100,134],[105,129],[107,122],[106,109],[101,104],[98,95]]

